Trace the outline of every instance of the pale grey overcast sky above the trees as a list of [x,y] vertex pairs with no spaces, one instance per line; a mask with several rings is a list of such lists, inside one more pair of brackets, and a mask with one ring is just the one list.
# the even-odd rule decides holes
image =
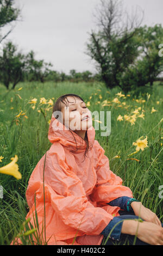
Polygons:
[[[93,10],[100,0],[15,0],[21,17],[9,39],[23,53],[33,50],[36,59],[53,64],[53,69],[66,74],[71,69],[79,72],[96,72],[95,65],[86,51],[91,29],[96,27]],[[162,0],[123,0],[128,13],[138,6],[144,11],[142,25],[163,27]],[[141,11],[140,11],[141,16]],[[10,27],[5,27],[5,33]]]

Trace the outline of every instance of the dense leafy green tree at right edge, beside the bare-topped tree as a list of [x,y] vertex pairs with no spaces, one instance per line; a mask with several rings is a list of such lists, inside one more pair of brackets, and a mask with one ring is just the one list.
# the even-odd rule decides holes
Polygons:
[[141,39],[139,57],[121,76],[123,87],[127,88],[130,84],[131,89],[136,89],[136,95],[139,95],[139,92],[146,92],[146,89],[152,92],[153,82],[163,71],[163,58],[159,56],[158,48],[163,41],[163,28],[161,25],[145,25],[140,27],[138,36]]

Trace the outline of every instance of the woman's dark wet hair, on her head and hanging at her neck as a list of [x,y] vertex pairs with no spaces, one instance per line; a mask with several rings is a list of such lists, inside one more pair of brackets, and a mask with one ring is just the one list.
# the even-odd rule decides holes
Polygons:
[[[68,101],[67,96],[72,96],[75,100],[76,100],[76,98],[78,98],[78,99],[84,101],[84,100],[82,99],[82,97],[80,97],[80,96],[77,95],[77,94],[71,94],[71,93],[69,93],[69,94],[61,95],[61,96],[57,99],[57,101],[55,101],[55,103],[54,103],[54,106],[53,106],[53,113],[54,113],[55,111],[61,111],[61,102],[64,103],[66,106],[67,106],[67,102],[72,103],[71,101]],[[67,102],[66,102],[66,100],[67,100]],[[58,117],[59,117],[59,115],[56,115],[55,118],[57,119]],[[73,135],[73,132],[72,132],[72,130],[70,129],[70,127],[69,127],[69,130],[70,130],[70,132],[71,132],[72,135]],[[74,135],[73,135],[73,137],[74,137]],[[80,136],[79,136],[79,137],[80,137]],[[80,137],[80,138],[81,138],[81,137]],[[83,139],[83,138],[81,138],[81,139]],[[74,137],[74,140],[76,141],[76,138],[75,138],[75,137]],[[89,141],[88,141],[88,138],[87,138],[87,131],[86,131],[86,133],[85,133],[84,141],[86,142],[86,145],[87,145],[87,146],[86,146],[85,153],[84,153],[84,160],[85,160],[85,157],[87,157],[87,156],[86,156],[87,151],[89,151],[89,150],[92,149],[92,145],[91,145],[91,147],[90,147]],[[77,145],[77,142],[76,142],[76,145]],[[78,151],[78,147],[77,147],[77,150],[76,150],[76,151],[72,151],[72,150],[71,150],[70,152],[76,153],[77,151]],[[84,162],[84,161],[82,161],[82,162]]]

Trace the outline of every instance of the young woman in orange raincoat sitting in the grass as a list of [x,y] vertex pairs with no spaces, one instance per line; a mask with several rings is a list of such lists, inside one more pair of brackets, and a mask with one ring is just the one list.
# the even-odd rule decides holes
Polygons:
[[[34,225],[35,198],[40,232],[45,218],[48,245],[101,245],[111,230],[106,245],[126,239],[133,244],[135,235],[136,245],[163,245],[159,218],[110,170],[82,97],[59,97],[48,139],[51,148],[33,170],[26,192],[27,218]],[[136,221],[138,216],[142,222]]]

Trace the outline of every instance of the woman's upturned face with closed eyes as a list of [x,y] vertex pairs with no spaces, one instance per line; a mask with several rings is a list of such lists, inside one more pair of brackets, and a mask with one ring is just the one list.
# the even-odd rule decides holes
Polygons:
[[67,96],[67,106],[61,102],[64,125],[73,131],[87,130],[92,126],[92,116],[84,101]]

